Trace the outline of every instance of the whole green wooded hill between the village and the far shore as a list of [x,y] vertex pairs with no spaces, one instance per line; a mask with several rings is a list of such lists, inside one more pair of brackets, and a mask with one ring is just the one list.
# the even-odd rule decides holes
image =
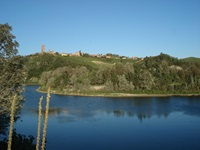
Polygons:
[[200,63],[167,54],[144,59],[35,54],[22,58],[27,84],[71,93],[198,93]]

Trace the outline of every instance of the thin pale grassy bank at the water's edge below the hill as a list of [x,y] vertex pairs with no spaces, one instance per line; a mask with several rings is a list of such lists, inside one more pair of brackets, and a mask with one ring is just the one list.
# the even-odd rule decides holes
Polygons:
[[[40,89],[37,89],[38,92],[46,93],[46,91],[42,91]],[[88,96],[88,97],[172,97],[172,96],[180,96],[180,97],[186,97],[186,96],[200,96],[199,94],[131,94],[131,93],[91,93],[91,94],[85,94],[85,93],[64,93],[64,92],[58,92],[56,90],[51,90],[52,94],[57,95],[66,95],[66,96]]]

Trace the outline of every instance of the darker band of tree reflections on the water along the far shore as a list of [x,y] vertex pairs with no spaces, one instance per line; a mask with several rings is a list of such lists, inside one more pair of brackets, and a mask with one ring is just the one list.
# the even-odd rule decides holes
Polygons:
[[[174,112],[200,117],[199,97],[91,98],[52,95],[51,99],[49,117],[54,117],[59,122],[92,120],[102,113],[115,117],[137,117],[140,122],[152,116],[167,118]],[[25,106],[26,113],[38,113],[37,108],[32,105]],[[45,110],[42,112],[44,117]]]

